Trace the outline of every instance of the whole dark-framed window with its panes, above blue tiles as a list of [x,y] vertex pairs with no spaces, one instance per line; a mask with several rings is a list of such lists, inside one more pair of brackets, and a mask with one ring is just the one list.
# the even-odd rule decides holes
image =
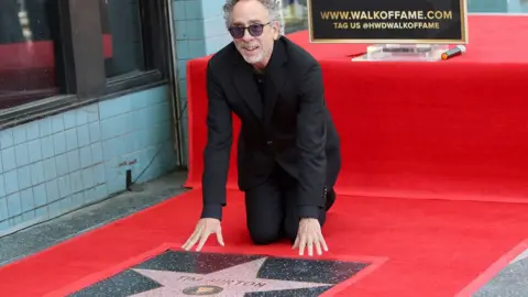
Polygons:
[[166,2],[0,0],[0,128],[165,84]]

